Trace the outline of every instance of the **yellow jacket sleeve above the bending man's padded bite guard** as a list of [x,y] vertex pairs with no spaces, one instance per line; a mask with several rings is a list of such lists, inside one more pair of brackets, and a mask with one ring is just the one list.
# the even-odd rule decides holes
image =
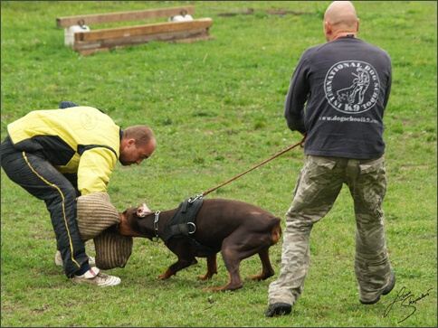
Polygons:
[[78,168],[78,190],[81,195],[106,192],[109,176],[117,164],[117,156],[108,148],[96,147],[81,155]]

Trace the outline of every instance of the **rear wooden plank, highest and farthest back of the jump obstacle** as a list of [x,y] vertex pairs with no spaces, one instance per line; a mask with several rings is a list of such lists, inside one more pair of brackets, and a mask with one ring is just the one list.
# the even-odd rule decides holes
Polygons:
[[82,14],[78,16],[56,18],[56,26],[69,27],[71,25],[90,25],[93,23],[115,23],[126,21],[139,21],[143,19],[168,18],[184,13],[195,14],[195,6],[187,5],[172,8],[137,10],[131,12],[119,12],[109,14]]

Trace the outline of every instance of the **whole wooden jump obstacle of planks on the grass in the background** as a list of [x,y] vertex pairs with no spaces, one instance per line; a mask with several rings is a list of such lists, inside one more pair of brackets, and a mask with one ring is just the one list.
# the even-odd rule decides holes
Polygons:
[[[58,27],[69,28],[73,25],[87,26],[96,23],[116,23],[139,21],[195,14],[191,5],[119,12],[109,14],[86,14],[56,18]],[[93,52],[109,51],[113,47],[136,45],[151,41],[162,42],[196,42],[212,40],[209,29],[213,22],[211,18],[191,19],[180,22],[148,23],[142,25],[106,28],[93,31],[74,33],[73,49],[82,55]]]

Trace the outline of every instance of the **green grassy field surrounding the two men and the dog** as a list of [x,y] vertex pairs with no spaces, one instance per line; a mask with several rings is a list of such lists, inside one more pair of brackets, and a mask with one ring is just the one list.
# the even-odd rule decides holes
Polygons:
[[[1,136],[34,109],[71,100],[100,108],[121,127],[147,124],[157,150],[135,167],[118,164],[109,195],[119,211],[145,201],[170,210],[300,141],[282,112],[301,52],[325,42],[322,15],[330,2],[38,1],[1,2]],[[266,318],[269,284],[280,270],[281,242],[271,248],[276,275],[246,281],[234,292],[219,273],[199,281],[205,259],[167,281],[176,261],[163,243],[135,239],[127,267],[108,270],[121,285],[72,286],[55,267],[54,233],[43,201],[1,171],[2,326],[435,326],[437,325],[437,4],[354,2],[358,37],[386,49],[393,91],[386,108],[384,203],[395,290],[360,305],[354,275],[355,220],[347,188],[314,227],[305,291],[292,314]],[[63,44],[56,17],[195,5],[211,17],[214,40],[144,45],[81,56]],[[239,14],[248,8],[254,14]],[[284,9],[301,14],[267,14]],[[235,15],[222,15],[231,13]],[[90,26],[98,29],[100,26]],[[252,202],[284,218],[303,162],[300,148],[226,184],[206,198]],[[283,223],[284,224],[284,220]],[[93,254],[92,242],[87,243]],[[243,277],[261,270],[257,257]],[[413,295],[405,306],[397,294]],[[394,304],[394,305],[393,305]]]

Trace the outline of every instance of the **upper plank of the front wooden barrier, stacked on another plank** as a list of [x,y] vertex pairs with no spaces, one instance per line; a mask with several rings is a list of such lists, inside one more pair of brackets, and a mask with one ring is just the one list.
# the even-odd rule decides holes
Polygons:
[[176,31],[193,30],[196,28],[209,28],[213,24],[211,18],[199,18],[186,22],[150,23],[145,25],[115,27],[89,32],[74,33],[74,40],[92,41],[111,38],[123,38],[127,36],[170,33]]

